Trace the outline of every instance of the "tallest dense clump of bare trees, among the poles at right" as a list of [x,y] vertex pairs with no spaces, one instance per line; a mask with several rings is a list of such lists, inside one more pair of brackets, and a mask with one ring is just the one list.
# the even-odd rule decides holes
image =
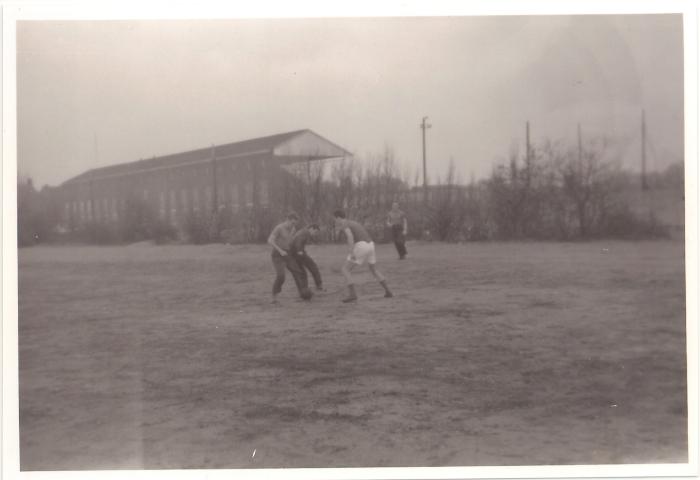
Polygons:
[[[487,235],[571,239],[663,234],[653,212],[646,217],[633,213],[625,192],[639,188],[636,177],[606,159],[606,150],[602,139],[578,149],[546,143],[526,154],[524,162],[511,154],[509,165],[496,168],[481,192],[490,223]],[[678,187],[682,191],[682,182]]]

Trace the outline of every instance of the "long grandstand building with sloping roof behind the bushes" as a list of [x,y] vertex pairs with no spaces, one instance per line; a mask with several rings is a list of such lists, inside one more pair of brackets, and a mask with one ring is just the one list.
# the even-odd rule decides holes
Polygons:
[[63,218],[69,228],[118,222],[131,199],[179,226],[191,213],[267,206],[289,167],[347,156],[306,129],[96,168],[61,185]]

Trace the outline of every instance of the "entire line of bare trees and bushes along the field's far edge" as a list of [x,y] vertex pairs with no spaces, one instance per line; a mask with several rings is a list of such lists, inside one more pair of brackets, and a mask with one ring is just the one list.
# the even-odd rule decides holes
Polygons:
[[[19,185],[20,245],[56,238],[93,243],[262,242],[288,211],[323,226],[326,241],[336,241],[332,212],[343,207],[361,221],[378,241],[389,240],[386,213],[394,201],[407,213],[410,238],[441,241],[511,239],[570,240],[601,237],[663,235],[654,212],[639,215],[625,192],[639,188],[638,179],[607,157],[607,142],[592,141],[568,148],[546,142],[524,155],[513,149],[489,178],[464,185],[454,163],[445,175],[423,191],[410,187],[393,152],[360,161],[313,162],[289,169],[266,208],[191,213],[179,228],[159,219],[143,201],[127,201],[119,224],[91,223],[78,231],[61,232],[60,212],[51,189],[37,192],[31,183]],[[683,191],[683,166],[677,164],[650,175],[652,188]]]

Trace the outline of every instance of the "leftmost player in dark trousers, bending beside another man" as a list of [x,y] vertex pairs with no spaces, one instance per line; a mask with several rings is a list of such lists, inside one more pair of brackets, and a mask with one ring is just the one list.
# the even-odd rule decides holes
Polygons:
[[299,296],[304,300],[310,300],[312,293],[306,282],[306,272],[304,272],[294,257],[289,254],[292,237],[299,223],[296,213],[287,215],[287,219],[277,225],[270,233],[267,243],[272,246],[272,266],[275,268],[275,282],[272,284],[272,303],[277,303],[277,295],[282,291],[284,283],[284,269],[287,268],[294,277],[299,290]]

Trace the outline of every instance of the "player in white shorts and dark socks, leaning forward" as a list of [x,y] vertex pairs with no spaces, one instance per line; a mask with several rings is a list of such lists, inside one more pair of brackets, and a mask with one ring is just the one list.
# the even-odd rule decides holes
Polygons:
[[374,278],[376,278],[384,288],[384,297],[393,297],[394,295],[386,284],[386,279],[376,268],[377,256],[374,252],[374,242],[369,236],[369,233],[367,233],[367,230],[365,230],[365,227],[353,220],[346,219],[343,210],[336,210],[333,212],[333,217],[335,218],[335,227],[345,232],[348,248],[350,250],[341,268],[343,276],[348,284],[348,296],[343,299],[343,303],[357,300],[357,292],[355,291],[355,284],[353,283],[351,272],[356,265],[362,265],[365,262],[367,262],[369,271],[372,272]]

